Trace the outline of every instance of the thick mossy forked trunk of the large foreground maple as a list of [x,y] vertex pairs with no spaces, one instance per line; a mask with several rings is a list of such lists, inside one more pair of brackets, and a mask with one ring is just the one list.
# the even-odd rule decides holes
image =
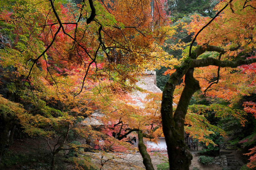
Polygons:
[[[181,66],[177,75],[170,77],[163,91],[161,114],[170,170],[188,170],[192,159],[192,155],[184,141],[184,121],[189,101],[194,92],[200,89],[200,86],[199,82],[193,78],[194,69],[188,68],[189,64]],[[186,72],[186,70],[188,71]],[[172,98],[174,88],[185,72],[185,87],[181,93],[176,111],[173,114]]]

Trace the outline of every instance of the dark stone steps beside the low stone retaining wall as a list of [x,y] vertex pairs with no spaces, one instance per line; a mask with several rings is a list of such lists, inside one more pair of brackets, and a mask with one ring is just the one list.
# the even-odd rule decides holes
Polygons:
[[235,158],[232,151],[221,151],[220,155],[226,156],[228,165],[225,168],[228,170],[240,170],[240,167],[244,165],[243,162]]

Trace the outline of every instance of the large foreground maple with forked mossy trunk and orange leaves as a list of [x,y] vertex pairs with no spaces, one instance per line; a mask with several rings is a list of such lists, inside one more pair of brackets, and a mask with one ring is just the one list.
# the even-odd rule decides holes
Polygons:
[[[251,47],[254,46],[255,30],[249,29],[255,23],[254,6],[255,1],[231,0],[228,1],[228,4],[226,1],[222,1],[216,7],[219,12],[214,18],[196,18],[195,22],[190,24],[189,28],[191,32],[195,32],[195,35],[188,56],[170,75],[163,91],[161,115],[168,156],[172,158],[169,159],[170,169],[188,169],[192,159],[191,154],[185,147],[183,133],[189,101],[192,95],[201,89],[199,81],[194,78],[194,68],[213,65],[217,66],[217,69],[215,69],[219,73],[220,67],[236,68],[240,65],[255,63],[255,59],[242,60],[236,58],[237,54],[242,51],[243,53],[251,52]],[[250,19],[240,20],[240,18]],[[203,19],[205,19],[205,23]],[[230,31],[230,28],[233,31]],[[192,50],[195,41],[198,46]],[[201,57],[206,51],[216,51],[219,55],[217,57]],[[178,106],[173,113],[173,92],[184,75],[185,86],[180,95]],[[210,79],[210,81],[212,81],[211,83],[218,83],[219,78],[218,75],[217,78]]]

